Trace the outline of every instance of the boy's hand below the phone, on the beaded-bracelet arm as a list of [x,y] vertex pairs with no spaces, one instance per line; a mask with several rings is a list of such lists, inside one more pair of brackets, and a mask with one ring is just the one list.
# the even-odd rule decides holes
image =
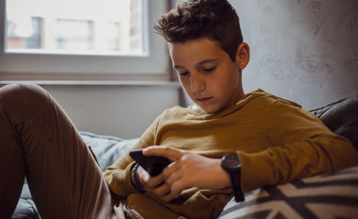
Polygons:
[[147,192],[157,196],[159,199],[169,202],[173,198],[169,194],[169,185],[164,182],[163,173],[152,177],[141,166],[137,169],[137,181]]

